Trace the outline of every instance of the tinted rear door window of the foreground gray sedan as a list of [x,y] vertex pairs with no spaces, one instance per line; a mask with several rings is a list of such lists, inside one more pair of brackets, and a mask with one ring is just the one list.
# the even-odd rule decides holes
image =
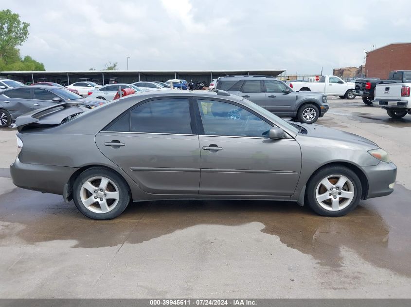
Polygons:
[[188,99],[153,100],[131,110],[131,132],[191,134]]

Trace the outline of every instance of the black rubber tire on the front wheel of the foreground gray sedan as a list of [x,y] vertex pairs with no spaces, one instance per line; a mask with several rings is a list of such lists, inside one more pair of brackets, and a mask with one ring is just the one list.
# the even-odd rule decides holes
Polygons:
[[[349,202],[348,205],[346,205],[346,207],[342,208],[341,210],[331,210],[331,202],[332,200],[325,200],[324,202],[330,201],[330,210],[326,210],[324,209],[324,207],[322,207],[322,205],[320,205],[320,202],[317,200],[316,197],[316,190],[317,188],[319,189],[324,189],[324,186],[322,186],[320,184],[320,182],[324,179],[327,178],[328,176],[331,175],[339,175],[339,176],[345,176],[346,178],[348,178],[351,183],[352,183],[352,188],[354,189],[353,192],[353,198],[351,200],[351,202]],[[333,180],[333,179],[331,179]],[[329,182],[331,181],[329,180]],[[334,180],[338,180],[338,179],[334,179]],[[335,184],[338,181],[334,181]],[[346,185],[343,186],[344,189],[347,189],[348,187],[348,181],[346,183]],[[333,188],[334,192],[337,191],[337,189],[334,187]],[[322,192],[326,191],[324,194],[327,194],[328,192],[333,192],[333,191],[328,191],[327,190],[323,190],[320,191],[320,193],[322,194]],[[339,190],[340,191],[340,190]],[[337,192],[339,193],[339,192]],[[330,193],[331,194],[331,193]],[[316,172],[308,181],[308,184],[306,186],[306,190],[305,190],[305,195],[306,195],[306,199],[307,199],[307,203],[308,206],[314,210],[316,213],[323,215],[323,216],[342,216],[345,215],[349,212],[351,212],[352,210],[354,210],[359,203],[359,199],[361,197],[362,194],[362,186],[361,186],[361,181],[359,180],[357,174],[355,172],[353,172],[351,169],[342,166],[342,165],[334,165],[334,166],[326,166],[324,168],[322,168],[320,171]],[[330,196],[330,198],[333,197],[339,197],[338,194],[337,196],[333,196],[333,194]],[[341,204],[343,204],[344,201],[348,201],[349,199],[347,198],[338,198],[338,200],[341,202]]]

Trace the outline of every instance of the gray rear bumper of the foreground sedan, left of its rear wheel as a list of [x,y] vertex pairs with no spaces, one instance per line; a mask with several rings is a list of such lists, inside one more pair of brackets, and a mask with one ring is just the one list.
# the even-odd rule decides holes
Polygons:
[[43,193],[63,194],[64,185],[78,168],[22,163],[10,165],[13,183],[19,188]]

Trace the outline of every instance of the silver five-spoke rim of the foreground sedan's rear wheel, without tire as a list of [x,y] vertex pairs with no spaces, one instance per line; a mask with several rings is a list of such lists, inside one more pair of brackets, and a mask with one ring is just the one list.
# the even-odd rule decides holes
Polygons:
[[120,198],[116,184],[106,177],[92,177],[83,183],[80,199],[83,205],[95,213],[107,213],[113,210]]

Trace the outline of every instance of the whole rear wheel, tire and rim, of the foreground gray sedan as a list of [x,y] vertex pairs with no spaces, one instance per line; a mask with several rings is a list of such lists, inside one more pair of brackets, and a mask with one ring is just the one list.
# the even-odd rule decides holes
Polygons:
[[130,191],[124,178],[117,173],[93,167],[74,181],[73,201],[77,209],[91,219],[113,219],[127,207]]

